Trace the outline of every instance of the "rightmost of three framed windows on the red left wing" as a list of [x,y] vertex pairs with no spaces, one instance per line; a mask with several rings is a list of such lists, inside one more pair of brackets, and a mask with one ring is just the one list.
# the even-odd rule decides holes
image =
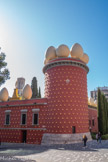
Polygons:
[[32,109],[32,112],[33,112],[32,124],[33,125],[39,124],[39,111],[40,109]]

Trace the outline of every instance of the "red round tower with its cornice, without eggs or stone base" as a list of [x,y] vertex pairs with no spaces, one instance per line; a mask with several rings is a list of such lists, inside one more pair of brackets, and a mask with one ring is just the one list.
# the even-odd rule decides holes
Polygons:
[[89,132],[88,71],[85,63],[67,57],[54,59],[44,66],[45,98],[48,99],[46,128],[50,138],[51,134]]

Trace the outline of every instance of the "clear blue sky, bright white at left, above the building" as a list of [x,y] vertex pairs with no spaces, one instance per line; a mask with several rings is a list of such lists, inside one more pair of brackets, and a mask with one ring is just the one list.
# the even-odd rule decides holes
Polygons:
[[108,86],[107,0],[0,0],[0,47],[6,54],[11,79],[6,87],[12,96],[18,77],[31,85],[38,79],[44,96],[44,55],[53,45],[78,42],[89,55],[88,95]]

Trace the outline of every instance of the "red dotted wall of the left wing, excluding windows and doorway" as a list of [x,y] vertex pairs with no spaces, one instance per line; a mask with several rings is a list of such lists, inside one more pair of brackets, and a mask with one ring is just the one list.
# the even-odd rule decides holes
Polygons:
[[[34,105],[37,103],[38,105]],[[14,142],[22,143],[22,131],[26,128],[27,130],[27,143],[40,144],[42,135],[45,130],[33,130],[34,128],[44,128],[45,127],[45,108],[47,105],[47,99],[33,99],[33,100],[22,100],[22,101],[9,101],[1,102],[0,106],[0,137],[2,142]],[[26,105],[31,104],[31,105]],[[6,106],[5,106],[6,105]],[[7,106],[9,105],[9,106]],[[23,105],[23,106],[21,106]],[[21,110],[27,109],[27,123],[26,125],[21,125]],[[39,111],[39,125],[32,125],[33,112],[32,109],[40,109]],[[5,111],[11,110],[10,112],[10,125],[5,125]]]

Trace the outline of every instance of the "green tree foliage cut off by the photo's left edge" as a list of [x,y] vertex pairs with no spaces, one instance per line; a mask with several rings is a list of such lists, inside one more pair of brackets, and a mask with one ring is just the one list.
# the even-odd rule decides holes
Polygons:
[[10,79],[10,72],[6,68],[7,63],[5,62],[5,57],[6,55],[3,52],[0,52],[0,86],[5,83],[7,79]]

